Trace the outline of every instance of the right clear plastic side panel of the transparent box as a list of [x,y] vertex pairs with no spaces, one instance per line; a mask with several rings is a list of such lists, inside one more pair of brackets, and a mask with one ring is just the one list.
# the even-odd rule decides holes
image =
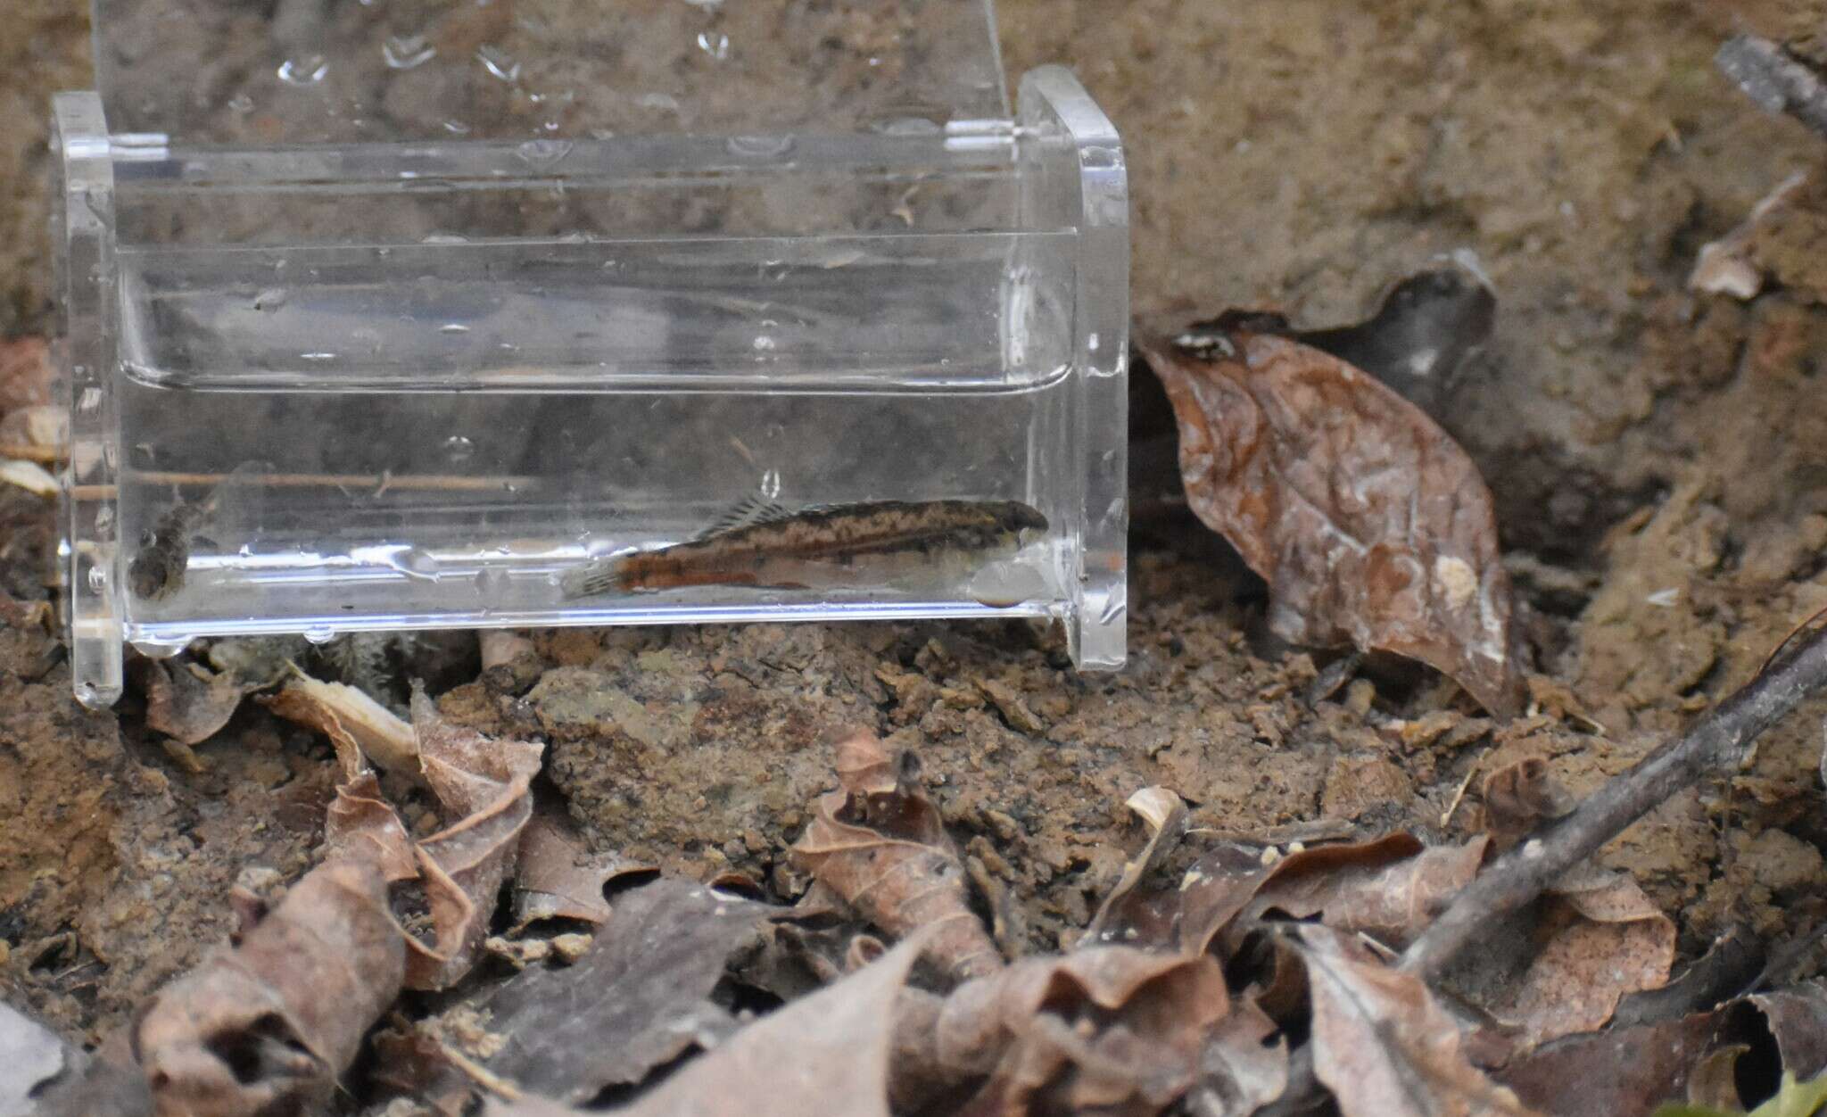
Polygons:
[[1069,69],[1043,66],[1018,99],[1021,219],[1078,229],[1072,437],[1083,463],[1082,547],[1069,618],[1072,658],[1125,656],[1129,439],[1129,179],[1116,128]]

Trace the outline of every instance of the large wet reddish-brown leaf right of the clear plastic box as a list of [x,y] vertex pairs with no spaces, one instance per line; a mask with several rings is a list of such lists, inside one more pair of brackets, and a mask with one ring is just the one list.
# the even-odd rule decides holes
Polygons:
[[1180,424],[1188,505],[1268,580],[1294,644],[1394,651],[1522,709],[1491,494],[1434,420],[1295,340],[1144,342]]

